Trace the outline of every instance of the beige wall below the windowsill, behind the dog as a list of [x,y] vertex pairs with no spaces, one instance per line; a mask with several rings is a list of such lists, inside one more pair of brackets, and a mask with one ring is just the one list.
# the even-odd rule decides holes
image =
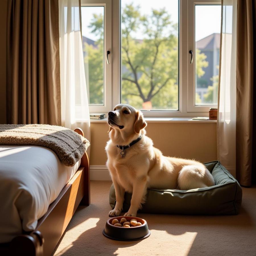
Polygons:
[[[147,135],[166,156],[217,159],[216,123],[148,123]],[[90,165],[105,165],[108,125],[91,123]]]

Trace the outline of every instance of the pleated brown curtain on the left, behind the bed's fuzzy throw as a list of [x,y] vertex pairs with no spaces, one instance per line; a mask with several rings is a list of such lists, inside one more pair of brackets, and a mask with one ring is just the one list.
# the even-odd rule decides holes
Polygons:
[[8,0],[7,123],[61,125],[58,0]]

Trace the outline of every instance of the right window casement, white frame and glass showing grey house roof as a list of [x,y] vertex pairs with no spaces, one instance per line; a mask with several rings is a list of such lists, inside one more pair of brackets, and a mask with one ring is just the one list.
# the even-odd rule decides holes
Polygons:
[[188,42],[194,64],[188,67],[188,111],[205,112],[218,103],[221,5],[189,1]]

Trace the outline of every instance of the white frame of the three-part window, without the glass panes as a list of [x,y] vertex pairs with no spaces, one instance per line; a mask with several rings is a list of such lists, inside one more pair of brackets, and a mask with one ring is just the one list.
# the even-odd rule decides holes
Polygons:
[[[109,69],[106,71],[106,88],[104,90],[104,106],[90,105],[90,113],[101,112],[107,114],[114,106],[121,103],[121,0],[81,0],[84,6],[106,6],[104,8],[104,39],[108,36],[110,43],[106,45],[104,63]],[[145,117],[195,117],[208,116],[210,107],[215,104],[195,105],[195,62],[190,64],[190,49],[195,53],[195,5],[220,5],[221,0],[179,0],[179,110],[142,110]],[[191,8],[193,12],[191,12]],[[112,15],[113,14],[113,15]],[[107,19],[108,15],[108,19]],[[189,20],[193,19],[193,22]],[[107,32],[107,22],[112,24]],[[110,38],[109,38],[110,37]],[[105,40],[104,40],[105,45]],[[110,64],[106,64],[106,51],[110,50]],[[112,86],[110,86],[110,84]],[[105,85],[104,85],[105,86]],[[192,96],[191,96],[192,95]]]

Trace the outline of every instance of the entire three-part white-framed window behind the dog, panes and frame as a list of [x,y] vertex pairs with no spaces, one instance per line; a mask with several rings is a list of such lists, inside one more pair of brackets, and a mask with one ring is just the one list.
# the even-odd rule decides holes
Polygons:
[[81,4],[91,112],[126,103],[145,116],[205,116],[216,107],[220,0]]

